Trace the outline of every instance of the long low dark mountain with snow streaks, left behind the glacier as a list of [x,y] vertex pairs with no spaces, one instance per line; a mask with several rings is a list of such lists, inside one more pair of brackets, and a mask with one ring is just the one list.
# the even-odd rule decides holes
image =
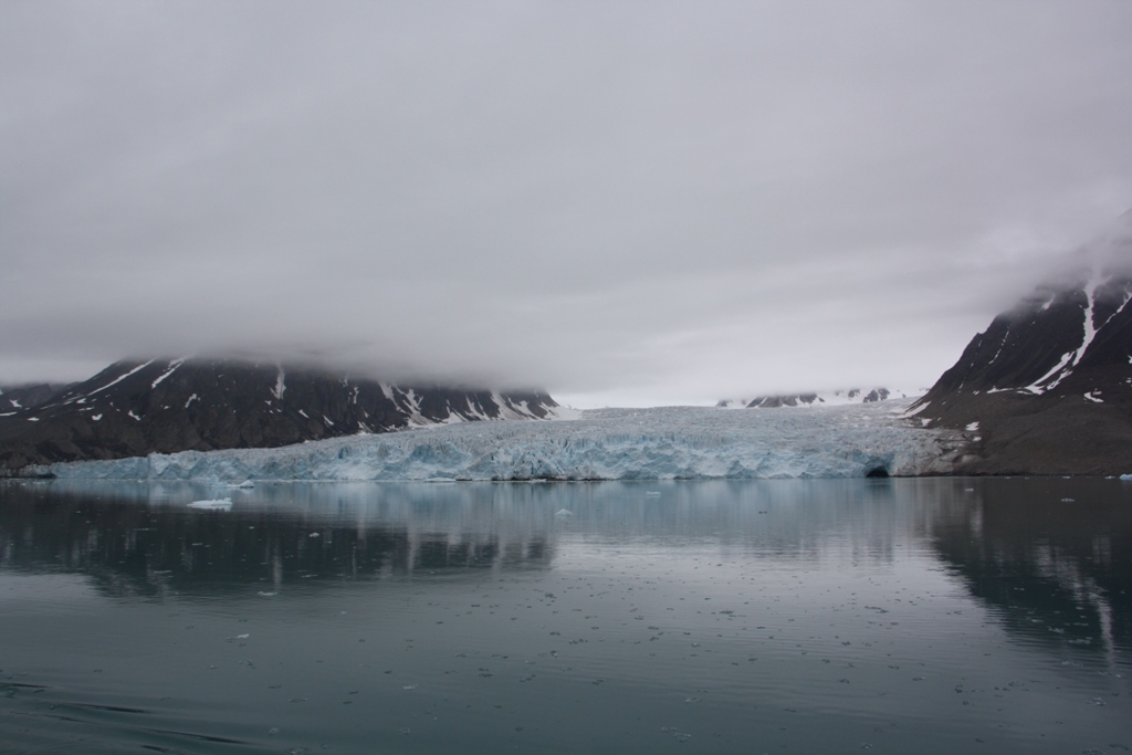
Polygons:
[[43,403],[3,412],[0,470],[274,447],[447,422],[548,419],[557,406],[538,392],[395,386],[278,364],[121,361]]

